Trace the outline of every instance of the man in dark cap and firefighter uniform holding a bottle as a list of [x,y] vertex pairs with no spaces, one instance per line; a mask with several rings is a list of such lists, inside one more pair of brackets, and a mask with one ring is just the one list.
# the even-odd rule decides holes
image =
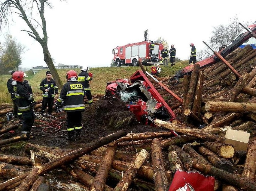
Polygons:
[[48,114],[52,114],[54,97],[58,97],[58,86],[52,79],[50,71],[45,73],[46,78],[43,79],[39,85],[39,89],[43,91],[43,101],[41,113],[45,113],[48,105]]

